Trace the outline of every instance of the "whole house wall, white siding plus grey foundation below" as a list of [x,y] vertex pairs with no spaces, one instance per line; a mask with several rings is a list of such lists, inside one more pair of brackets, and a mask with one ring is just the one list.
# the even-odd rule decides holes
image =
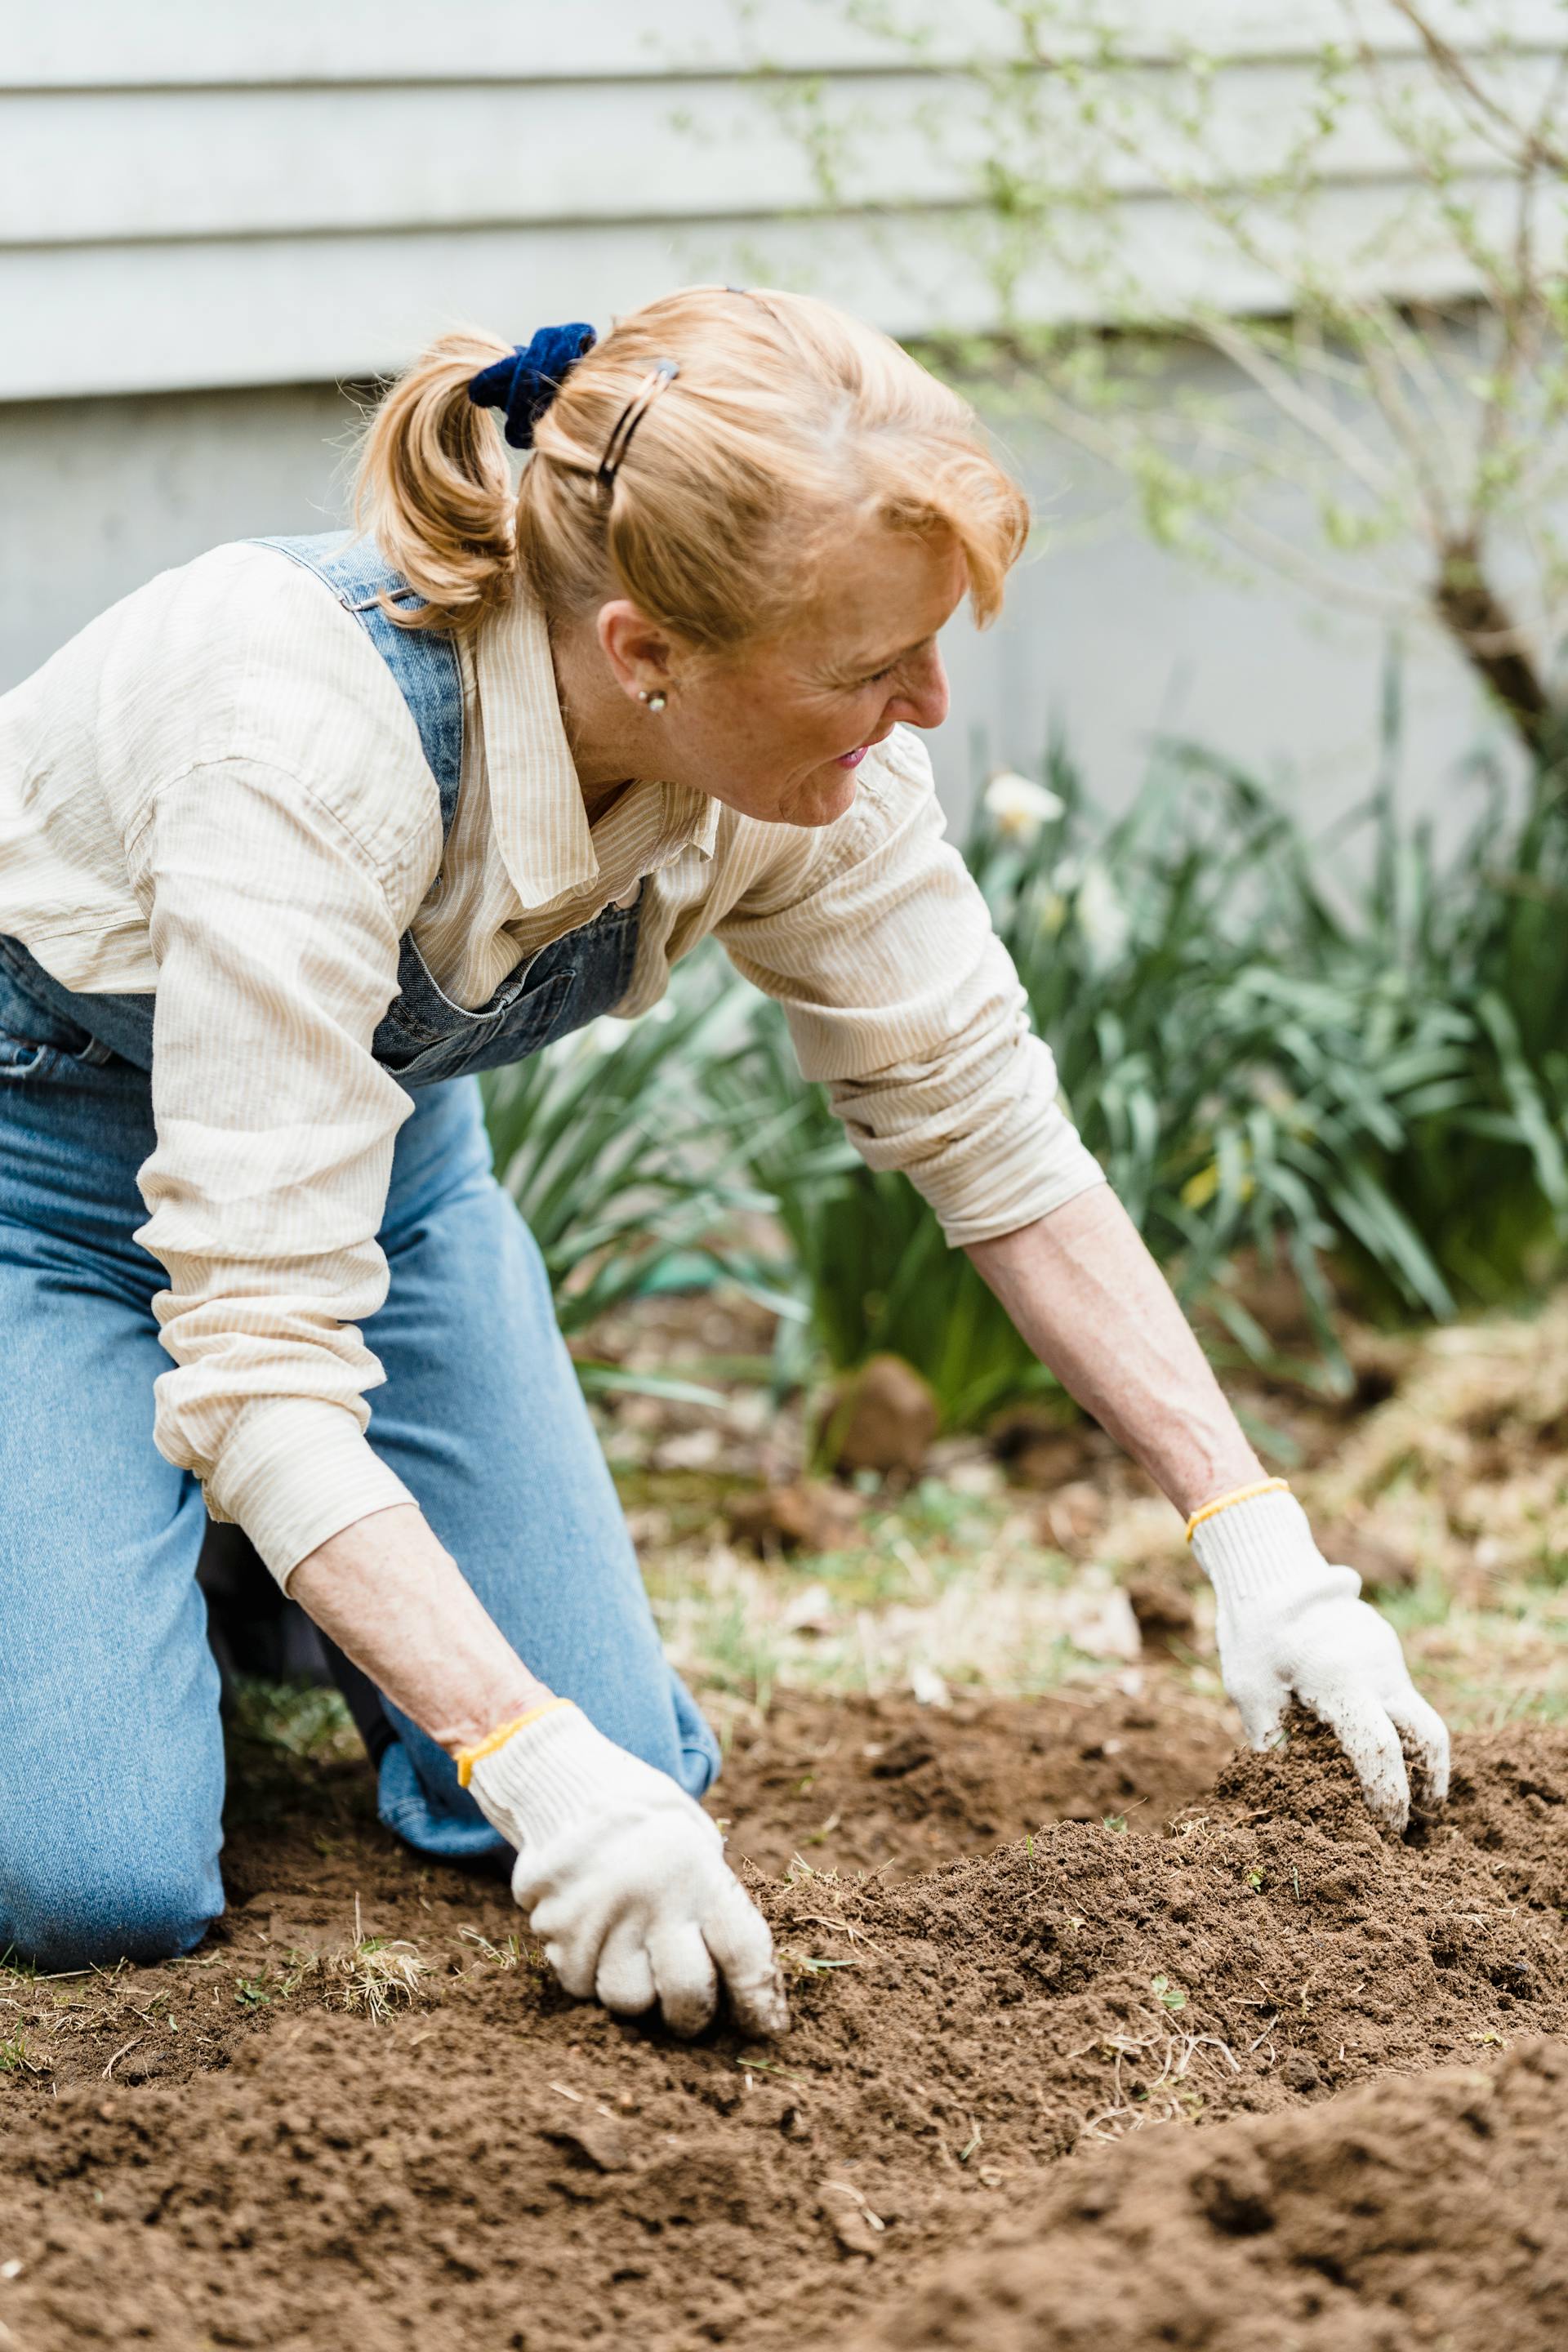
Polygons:
[[[1561,7],[1509,7],[1533,87],[1563,49]],[[339,386],[458,320],[522,336],[745,278],[809,282],[900,334],[990,325],[961,233],[987,127],[957,68],[999,54],[1006,9],[905,0],[922,9],[929,40],[910,52],[842,0],[465,0],[461,19],[428,0],[0,0],[0,689],[162,564],[331,517],[353,430]],[[1338,0],[1117,12],[1152,87],[1175,33],[1227,54],[1218,148],[1239,172],[1267,165],[1345,21]],[[1474,38],[1462,0],[1450,14]],[[1410,52],[1392,0],[1363,21]],[[802,92],[835,146],[832,198],[797,136]],[[1063,158],[1072,172],[1067,115]],[[1467,169],[1486,205],[1495,158],[1479,146]],[[1316,233],[1363,240],[1403,207],[1401,174],[1378,125],[1347,115]],[[1161,195],[1152,148],[1110,183],[1128,249],[1166,285],[1237,308],[1279,296]],[[1453,256],[1403,266],[1413,289],[1458,289]],[[1086,303],[1046,254],[1025,299],[1039,315]],[[983,642],[954,630],[957,814],[971,739],[983,760],[1030,762],[1051,715],[1110,800],[1159,724],[1253,762],[1288,753],[1324,807],[1352,795],[1378,630],[1173,564],[1077,452],[1009,430],[1048,529],[1006,623]],[[1434,795],[1476,703],[1441,647],[1410,663],[1410,767]]]

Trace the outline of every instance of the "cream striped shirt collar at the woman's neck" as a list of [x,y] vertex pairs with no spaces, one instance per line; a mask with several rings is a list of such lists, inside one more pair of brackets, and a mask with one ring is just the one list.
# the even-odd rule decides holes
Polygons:
[[[475,642],[475,682],[484,724],[484,767],[496,847],[517,901],[550,906],[599,875],[583,786],[555,691],[543,607],[520,588]],[[684,786],[635,786],[661,793],[665,840],[712,856],[719,802]]]

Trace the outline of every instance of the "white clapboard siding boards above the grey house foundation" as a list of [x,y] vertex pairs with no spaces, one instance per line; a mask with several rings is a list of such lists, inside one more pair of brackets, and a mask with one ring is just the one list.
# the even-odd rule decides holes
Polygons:
[[[961,205],[994,132],[954,59],[994,52],[1001,14],[931,7],[910,52],[851,26],[842,0],[0,0],[0,400],[369,376],[458,320],[604,320],[693,278],[811,285],[896,332],[985,327]],[[1450,0],[1448,16],[1474,45],[1476,12]],[[1418,71],[1389,0],[1363,19],[1394,71]],[[1039,80],[1060,186],[1105,186],[1131,280],[1171,306],[1279,303],[1267,268],[1166,193],[1192,158],[1164,120],[1159,59],[1178,38],[1225,52],[1204,172],[1246,186],[1309,101],[1340,0],[1117,0],[1117,21],[1147,61],[1124,78],[1119,139],[1086,151],[1070,94]],[[1523,108],[1559,68],[1568,9],[1507,0],[1507,24]],[[830,205],[788,127],[792,85],[759,82],[757,59],[820,73]],[[1495,153],[1474,136],[1458,160],[1502,230]],[[1324,256],[1401,219],[1408,155],[1366,108],[1321,167]],[[1410,296],[1474,285],[1453,249],[1408,235],[1380,268]],[[1020,299],[1086,315],[1060,252],[1039,254]]]

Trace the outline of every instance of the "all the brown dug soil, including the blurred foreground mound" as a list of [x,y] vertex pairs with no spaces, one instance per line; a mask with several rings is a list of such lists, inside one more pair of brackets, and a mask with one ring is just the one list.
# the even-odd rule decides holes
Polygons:
[[[931,1773],[943,1839],[973,1806],[985,1842],[1103,1764],[1084,1748],[1138,1731],[1119,1708],[1039,1700],[990,1733],[957,1710],[846,1710],[795,1844],[823,1802],[865,1799],[893,1860],[917,1851],[865,1757],[886,1733],[931,1740],[910,1773]],[[1185,1715],[1173,1731],[1192,1736]],[[752,1743],[722,1785],[738,1844],[788,1835],[778,1773],[820,1733],[790,1703]],[[1011,1813],[1009,1755],[1034,1757]],[[505,1889],[404,1856],[362,1788],[341,1769],[268,1797],[195,1962],[31,1990],[28,2063],[0,2077],[5,2352],[825,2352],[877,2326],[865,2343],[910,2347],[1561,2340],[1542,2333],[1561,2086],[1497,2060],[1568,2032],[1563,1733],[1460,1740],[1448,1816],[1406,1844],[1305,1736],[1225,1764],[1168,1832],[1143,1828],[1150,1780],[1126,1828],[1058,1820],[926,1877],[755,1875],[792,1973],[773,2049],[726,2030],[682,2049],[569,2004],[527,1938],[512,1957]],[[362,2002],[386,1952],[355,1957],[360,1931],[428,1971],[381,2023]],[[1199,2129],[1140,2131],[1161,2119]],[[994,2227],[1027,2230],[997,2258],[1011,2305],[976,2286]],[[1046,2333],[1041,2227],[1079,2333]],[[1469,2300],[1446,2284],[1465,2249]],[[914,2317],[886,2317],[919,2279]]]

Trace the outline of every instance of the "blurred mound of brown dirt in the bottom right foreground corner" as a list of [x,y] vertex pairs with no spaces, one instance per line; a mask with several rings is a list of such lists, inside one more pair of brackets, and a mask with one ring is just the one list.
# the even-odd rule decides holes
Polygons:
[[[1074,2161],[856,2352],[1568,2340],[1568,2042]],[[837,2338],[842,2345],[844,2338]]]

